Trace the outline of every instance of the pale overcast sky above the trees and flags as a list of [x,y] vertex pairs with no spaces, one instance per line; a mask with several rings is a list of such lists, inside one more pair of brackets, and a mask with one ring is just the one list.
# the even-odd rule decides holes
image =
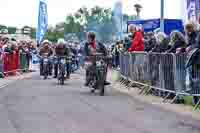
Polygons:
[[[67,13],[75,12],[85,5],[93,7],[113,7],[117,0],[48,0],[48,23],[55,25],[65,19]],[[127,1],[124,11],[134,14],[133,4],[141,1],[143,5],[142,18],[158,18],[160,13],[160,0],[123,0]],[[181,1],[165,0],[166,18],[181,18]],[[39,0],[0,0],[0,24],[9,26],[37,26]]]

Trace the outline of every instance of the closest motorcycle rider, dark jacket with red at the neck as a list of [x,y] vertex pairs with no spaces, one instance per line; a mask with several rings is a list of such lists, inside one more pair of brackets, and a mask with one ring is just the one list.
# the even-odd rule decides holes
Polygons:
[[[96,52],[102,53],[104,56],[108,55],[106,47],[102,43],[96,41],[96,35],[94,32],[88,32],[87,42],[84,45],[84,52],[85,52],[86,60],[90,60],[90,57],[94,55]],[[88,66],[88,68],[86,68],[85,86],[89,85],[90,72],[94,71],[94,67],[95,66],[91,65],[91,66]],[[106,75],[107,75],[107,72],[106,72]],[[105,81],[105,85],[109,85],[109,84],[110,84],[109,82]]]

